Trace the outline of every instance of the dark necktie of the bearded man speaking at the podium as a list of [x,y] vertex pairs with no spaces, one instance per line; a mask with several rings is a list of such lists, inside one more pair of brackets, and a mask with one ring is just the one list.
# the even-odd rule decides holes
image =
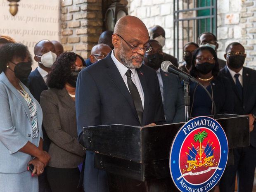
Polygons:
[[140,99],[139,91],[137,90],[136,85],[132,81],[131,74],[132,74],[132,71],[130,69],[128,69],[126,72],[127,84],[128,84],[128,88],[130,90],[130,94],[133,97],[133,103],[135,105],[135,109],[136,109],[137,115],[139,117],[140,125],[142,126],[142,114],[143,114],[142,102]]

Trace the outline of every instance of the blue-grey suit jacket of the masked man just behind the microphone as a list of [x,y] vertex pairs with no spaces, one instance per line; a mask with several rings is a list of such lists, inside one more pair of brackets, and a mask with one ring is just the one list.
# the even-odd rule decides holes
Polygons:
[[161,70],[164,84],[164,114],[167,123],[185,122],[184,91],[178,76]]

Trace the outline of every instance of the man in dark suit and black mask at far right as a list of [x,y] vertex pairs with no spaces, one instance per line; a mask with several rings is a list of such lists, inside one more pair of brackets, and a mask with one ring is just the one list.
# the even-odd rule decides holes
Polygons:
[[224,57],[227,66],[220,71],[220,75],[232,82],[235,113],[249,116],[250,146],[234,149],[234,164],[226,167],[220,181],[220,191],[234,192],[235,176],[238,174],[238,192],[251,192],[256,167],[256,71],[243,67],[246,54],[240,43],[228,45]]

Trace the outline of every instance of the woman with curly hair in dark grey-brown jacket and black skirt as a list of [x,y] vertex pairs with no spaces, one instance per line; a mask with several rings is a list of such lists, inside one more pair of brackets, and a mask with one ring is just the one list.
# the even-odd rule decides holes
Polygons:
[[85,151],[77,141],[76,79],[83,64],[76,62],[77,55],[64,52],[52,66],[40,104],[43,109],[43,126],[51,140],[47,178],[52,192],[79,192],[80,171]]

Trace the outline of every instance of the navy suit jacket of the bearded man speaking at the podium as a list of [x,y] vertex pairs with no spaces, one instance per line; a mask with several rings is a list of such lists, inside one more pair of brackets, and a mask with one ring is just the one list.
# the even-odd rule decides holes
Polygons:
[[[137,69],[145,95],[142,126],[164,122],[164,110],[156,72],[142,65]],[[76,86],[78,140],[83,127],[110,124],[140,126],[133,98],[109,55],[82,70]],[[86,153],[84,171],[86,192],[108,192],[105,171],[94,168],[94,154]]]

